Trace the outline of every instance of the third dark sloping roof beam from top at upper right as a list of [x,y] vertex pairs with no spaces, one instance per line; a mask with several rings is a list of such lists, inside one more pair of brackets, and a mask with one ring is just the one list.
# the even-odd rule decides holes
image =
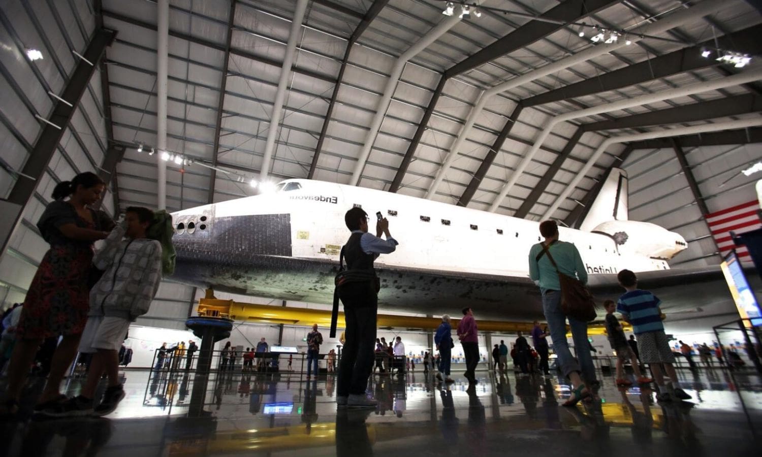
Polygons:
[[614,120],[587,123],[581,126],[585,132],[596,130],[625,129],[656,126],[671,123],[687,123],[718,117],[738,116],[762,111],[762,96],[741,94],[733,97],[718,98],[712,101],[680,105],[666,110],[649,111],[620,117]]

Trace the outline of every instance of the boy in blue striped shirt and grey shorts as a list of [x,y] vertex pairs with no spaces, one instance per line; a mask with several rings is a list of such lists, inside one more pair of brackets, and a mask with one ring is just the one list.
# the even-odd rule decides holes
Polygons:
[[[658,401],[671,401],[673,398],[687,400],[690,397],[677,383],[674,371],[674,355],[669,347],[669,340],[664,334],[664,324],[659,305],[661,300],[647,290],[638,289],[638,279],[630,270],[622,270],[616,275],[620,286],[626,292],[616,302],[616,311],[624,320],[632,324],[638,335],[638,350],[642,363],[648,363],[659,386]],[[664,383],[660,364],[664,365],[670,381]]]

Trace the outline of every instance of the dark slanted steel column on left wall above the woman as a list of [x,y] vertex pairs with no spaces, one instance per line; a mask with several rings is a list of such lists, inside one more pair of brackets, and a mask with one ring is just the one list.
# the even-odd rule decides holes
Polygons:
[[[8,195],[8,202],[15,203],[21,206],[21,208],[27,206],[40,178],[50,164],[50,159],[53,158],[53,153],[56,152],[56,147],[61,142],[66,127],[69,126],[72,120],[76,107],[82,99],[82,94],[87,89],[88,81],[90,81],[95,71],[95,67],[88,63],[88,61],[97,64],[106,47],[110,46],[116,36],[116,30],[105,28],[95,30],[87,50],[85,50],[85,59],[78,59],[74,72],[72,72],[71,78],[69,78],[66,87],[61,93],[61,98],[66,102],[59,101],[56,103],[53,113],[47,119],[48,123],[45,123],[42,133],[40,133],[34,148],[30,152],[29,159],[21,170],[21,173],[32,179],[23,176],[19,177],[13,189],[11,189],[11,193]],[[20,219],[21,213],[16,216],[11,226],[15,228]],[[10,236],[2,241],[2,251],[5,251],[8,239],[10,239]]]

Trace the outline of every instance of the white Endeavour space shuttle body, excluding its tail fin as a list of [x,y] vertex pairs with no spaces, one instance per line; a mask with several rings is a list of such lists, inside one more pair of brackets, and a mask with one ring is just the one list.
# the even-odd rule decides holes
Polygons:
[[[506,295],[503,281],[532,286],[527,256],[540,241],[538,222],[299,179],[281,182],[273,193],[174,213],[178,279],[252,296],[330,302],[331,266],[338,266],[349,237],[344,213],[352,206],[367,211],[371,231],[381,212],[399,241],[394,253],[376,260],[383,277],[379,303],[447,302],[456,294],[458,303],[495,304]],[[601,223],[595,232],[561,228],[560,238],[577,246],[591,275],[666,270],[666,260],[685,248],[677,233],[627,220]]]

